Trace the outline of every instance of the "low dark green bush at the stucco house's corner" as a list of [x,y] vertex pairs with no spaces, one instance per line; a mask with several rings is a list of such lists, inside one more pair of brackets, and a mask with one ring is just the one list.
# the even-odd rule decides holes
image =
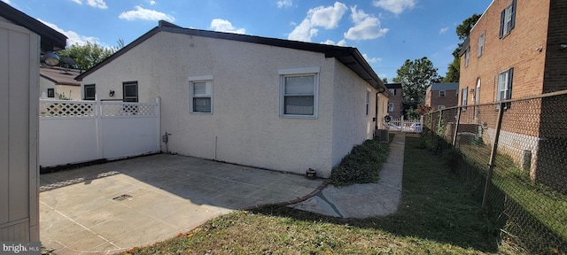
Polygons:
[[378,182],[382,165],[388,158],[390,147],[387,143],[374,140],[356,145],[333,168],[329,183],[335,186],[347,186],[356,183]]

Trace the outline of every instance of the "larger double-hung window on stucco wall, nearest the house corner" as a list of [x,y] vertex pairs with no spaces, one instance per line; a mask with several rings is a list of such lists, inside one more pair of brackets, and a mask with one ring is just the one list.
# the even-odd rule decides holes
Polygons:
[[319,67],[279,70],[280,116],[317,118]]

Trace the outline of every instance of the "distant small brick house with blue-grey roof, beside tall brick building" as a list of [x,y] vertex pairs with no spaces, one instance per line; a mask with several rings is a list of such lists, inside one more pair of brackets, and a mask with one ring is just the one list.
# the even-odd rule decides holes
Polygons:
[[457,106],[459,103],[459,82],[433,83],[425,92],[425,105],[432,111]]

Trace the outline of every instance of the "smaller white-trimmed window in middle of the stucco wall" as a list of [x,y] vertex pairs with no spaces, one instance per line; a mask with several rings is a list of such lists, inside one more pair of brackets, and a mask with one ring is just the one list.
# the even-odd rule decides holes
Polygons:
[[213,113],[213,76],[195,76],[190,82],[190,112]]

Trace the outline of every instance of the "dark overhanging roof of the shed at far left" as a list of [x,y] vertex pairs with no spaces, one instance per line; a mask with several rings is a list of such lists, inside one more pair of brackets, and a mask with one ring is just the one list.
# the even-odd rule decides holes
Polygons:
[[26,27],[42,37],[42,50],[61,50],[65,49],[67,36],[55,31],[51,27],[43,24],[37,19],[27,16],[24,12],[19,12],[9,4],[0,1],[0,16],[10,20],[12,23],[21,27]]

